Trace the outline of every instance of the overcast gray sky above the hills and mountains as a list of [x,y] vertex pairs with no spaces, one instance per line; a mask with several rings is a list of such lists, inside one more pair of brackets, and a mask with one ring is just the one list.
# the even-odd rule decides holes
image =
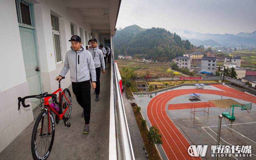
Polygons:
[[122,0],[116,28],[133,24],[170,31],[251,33],[256,30],[256,0]]

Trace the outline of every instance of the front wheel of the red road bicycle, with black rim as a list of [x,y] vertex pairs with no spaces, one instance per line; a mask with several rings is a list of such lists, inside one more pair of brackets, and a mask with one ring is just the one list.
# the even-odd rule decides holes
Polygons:
[[[49,119],[48,119],[49,118]],[[47,159],[54,142],[54,118],[51,112],[42,111],[37,117],[31,138],[34,159]]]

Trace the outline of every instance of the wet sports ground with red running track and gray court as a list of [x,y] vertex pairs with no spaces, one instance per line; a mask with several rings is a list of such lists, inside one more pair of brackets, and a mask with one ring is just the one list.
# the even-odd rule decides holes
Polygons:
[[[191,99],[189,93],[200,93],[201,96],[199,99]],[[158,149],[163,159],[214,159],[211,146],[216,145],[218,115],[226,112],[228,108],[217,106],[210,101],[225,101],[225,99],[232,103],[230,105],[252,103],[252,109],[247,113],[240,107],[234,107],[236,117],[234,120],[223,116],[220,145],[251,146],[251,154],[249,157],[247,157],[248,154],[243,157],[243,155],[231,153],[219,159],[256,159],[255,95],[220,84],[206,85],[204,89],[182,86],[153,94],[135,93],[136,103],[141,107],[148,127],[154,125],[162,134],[163,145]],[[195,104],[200,103],[209,103],[209,105],[194,107]],[[194,112],[194,115],[191,111],[198,112]],[[191,145],[208,145],[205,157],[189,155],[188,148]]]

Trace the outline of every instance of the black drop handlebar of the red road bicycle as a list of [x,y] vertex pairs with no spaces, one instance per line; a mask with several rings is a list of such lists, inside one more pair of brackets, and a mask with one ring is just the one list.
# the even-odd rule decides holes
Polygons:
[[22,104],[23,107],[29,107],[30,105],[26,105],[25,104],[25,99],[27,98],[37,98],[37,99],[40,99],[40,98],[44,98],[44,97],[50,97],[52,98],[52,101],[53,103],[56,103],[57,105],[60,104],[60,102],[58,102],[56,99],[57,99],[57,95],[56,94],[48,94],[48,92],[44,92],[42,94],[39,94],[39,95],[29,95],[29,96],[26,96],[26,97],[18,97],[18,110],[20,110],[20,102]]

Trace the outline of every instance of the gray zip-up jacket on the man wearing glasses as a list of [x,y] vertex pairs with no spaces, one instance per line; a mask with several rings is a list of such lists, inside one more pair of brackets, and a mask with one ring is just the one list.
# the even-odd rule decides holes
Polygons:
[[87,51],[89,51],[92,54],[92,59],[93,59],[95,68],[100,67],[100,65],[102,64],[102,70],[105,70],[105,61],[104,61],[102,51],[98,47],[95,47],[95,48],[91,47],[87,49]]

